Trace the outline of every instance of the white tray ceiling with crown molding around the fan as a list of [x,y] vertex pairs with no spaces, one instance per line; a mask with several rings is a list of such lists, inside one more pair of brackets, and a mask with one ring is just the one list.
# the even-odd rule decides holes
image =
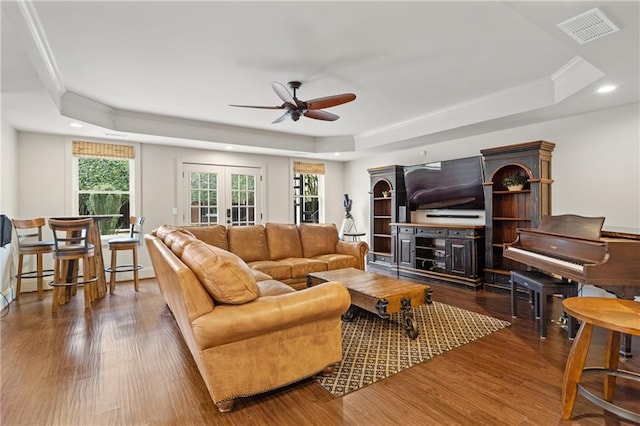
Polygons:
[[[3,1],[2,114],[24,131],[348,160],[638,102],[639,4]],[[620,31],[580,45],[557,28],[595,7]],[[335,122],[229,106],[279,105],[269,83],[290,80],[303,100],[357,99]],[[604,83],[619,89],[595,94]]]

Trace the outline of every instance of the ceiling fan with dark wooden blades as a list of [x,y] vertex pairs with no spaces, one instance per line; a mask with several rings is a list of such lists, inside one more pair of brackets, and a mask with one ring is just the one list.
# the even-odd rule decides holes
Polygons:
[[345,104],[347,102],[353,101],[356,98],[356,95],[354,95],[353,93],[343,93],[341,95],[324,96],[322,98],[311,99],[310,101],[301,101],[296,97],[296,90],[298,90],[300,86],[302,86],[302,83],[299,81],[290,81],[288,84],[289,87],[293,90],[293,95],[291,95],[284,84],[277,81],[271,82],[273,91],[276,92],[276,95],[278,95],[278,97],[284,102],[280,106],[230,106],[242,108],[284,109],[284,114],[276,118],[271,124],[280,123],[288,117],[291,117],[293,121],[298,121],[301,115],[309,118],[314,118],[316,120],[335,121],[340,117],[330,112],[322,111],[322,109]]

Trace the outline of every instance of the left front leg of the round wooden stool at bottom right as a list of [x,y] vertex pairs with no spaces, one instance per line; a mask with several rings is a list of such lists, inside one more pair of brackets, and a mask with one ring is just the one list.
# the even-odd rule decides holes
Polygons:
[[569,420],[578,395],[578,383],[582,379],[582,370],[587,360],[587,352],[593,334],[593,324],[583,322],[576,339],[571,345],[567,366],[564,370],[564,384],[562,386],[562,419]]

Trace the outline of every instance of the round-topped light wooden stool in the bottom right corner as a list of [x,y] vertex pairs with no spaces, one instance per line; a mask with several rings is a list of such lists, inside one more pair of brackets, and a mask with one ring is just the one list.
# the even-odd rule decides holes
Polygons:
[[[564,371],[562,418],[564,420],[571,418],[576,396],[580,393],[590,402],[619,417],[640,422],[640,413],[634,413],[613,403],[617,377],[640,382],[640,374],[618,370],[620,334],[640,336],[640,303],[632,300],[601,297],[571,297],[562,303],[569,315],[582,321],[582,326],[571,346]],[[593,327],[607,330],[604,367],[584,368]],[[581,384],[583,373],[604,374],[604,398],[594,395]]]

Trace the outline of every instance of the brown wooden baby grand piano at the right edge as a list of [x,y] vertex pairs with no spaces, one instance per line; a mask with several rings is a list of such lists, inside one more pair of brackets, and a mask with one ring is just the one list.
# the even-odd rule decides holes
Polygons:
[[[604,217],[543,216],[539,228],[518,229],[503,256],[633,299],[640,295],[640,235],[603,231],[603,223]],[[623,355],[631,356],[630,336],[623,345]]]

